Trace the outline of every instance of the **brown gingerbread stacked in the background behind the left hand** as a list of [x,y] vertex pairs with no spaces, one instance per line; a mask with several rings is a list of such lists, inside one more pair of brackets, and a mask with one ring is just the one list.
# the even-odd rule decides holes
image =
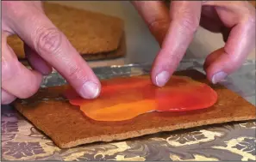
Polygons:
[[[86,61],[125,55],[124,23],[120,18],[57,3],[43,2],[43,9]],[[7,41],[18,59],[28,65],[22,39],[12,35]]]

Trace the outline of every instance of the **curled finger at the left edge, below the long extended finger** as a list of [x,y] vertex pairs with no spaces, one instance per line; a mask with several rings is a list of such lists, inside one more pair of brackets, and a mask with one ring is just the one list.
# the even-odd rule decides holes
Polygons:
[[25,99],[37,92],[42,75],[20,63],[14,51],[2,39],[2,88],[17,98]]

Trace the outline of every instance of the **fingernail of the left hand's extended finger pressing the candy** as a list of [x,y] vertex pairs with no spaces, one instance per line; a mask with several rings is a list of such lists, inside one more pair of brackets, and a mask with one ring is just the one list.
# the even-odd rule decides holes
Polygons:
[[80,93],[84,99],[94,99],[99,93],[99,87],[96,83],[87,81],[84,83]]

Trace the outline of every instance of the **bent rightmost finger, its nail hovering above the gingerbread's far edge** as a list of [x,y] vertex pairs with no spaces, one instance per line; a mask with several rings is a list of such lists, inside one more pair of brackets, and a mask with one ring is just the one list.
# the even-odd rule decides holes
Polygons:
[[[224,3],[215,4],[223,5]],[[223,48],[212,52],[206,58],[204,68],[209,81],[214,84],[239,69],[255,45],[255,9],[243,5],[240,5],[239,8],[229,6],[226,5],[225,10],[218,10],[221,18],[227,12],[227,9],[228,12],[242,15],[237,15],[237,19],[228,21],[228,25],[233,27],[229,33],[227,43]],[[240,10],[243,10],[243,12],[240,13]]]

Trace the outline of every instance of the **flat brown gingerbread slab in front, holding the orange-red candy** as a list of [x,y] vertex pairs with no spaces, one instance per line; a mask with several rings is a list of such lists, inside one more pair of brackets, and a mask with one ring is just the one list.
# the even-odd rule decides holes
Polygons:
[[[197,70],[178,71],[209,84]],[[17,111],[48,135],[61,148],[95,141],[116,141],[176,129],[213,123],[255,119],[255,106],[221,85],[211,85],[218,94],[217,103],[205,110],[190,112],[150,112],[126,122],[97,122],[84,117],[78,107],[59,99],[66,86],[42,88],[30,99],[17,100]]]

